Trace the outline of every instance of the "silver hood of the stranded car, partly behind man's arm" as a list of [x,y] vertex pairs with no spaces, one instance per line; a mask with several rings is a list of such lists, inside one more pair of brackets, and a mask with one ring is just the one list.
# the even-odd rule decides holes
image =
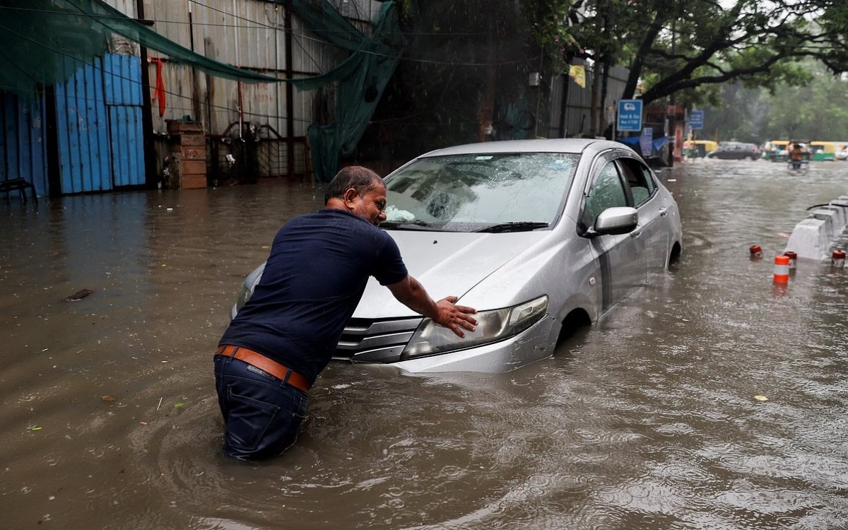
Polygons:
[[[494,234],[387,232],[398,243],[410,275],[421,282],[434,300],[447,296],[461,298],[487,276],[552,233],[549,230]],[[354,312],[355,318],[366,319],[414,315],[417,315],[415,311],[398,302],[391,291],[373,277]]]

